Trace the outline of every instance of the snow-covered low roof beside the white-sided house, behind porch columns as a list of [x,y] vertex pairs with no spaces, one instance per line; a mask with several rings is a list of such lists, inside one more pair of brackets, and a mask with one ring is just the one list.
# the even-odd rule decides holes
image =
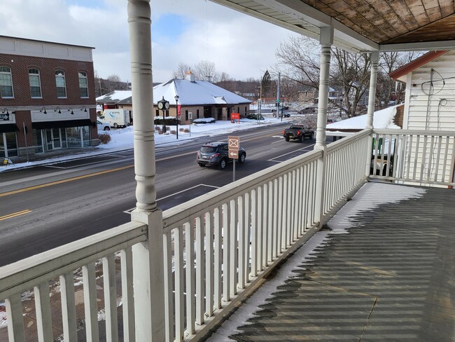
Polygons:
[[[384,129],[400,129],[398,125],[393,123],[393,118],[396,114],[396,107],[388,107],[375,111],[373,114],[373,128]],[[367,125],[367,114],[348,118],[346,120],[338,121],[336,123],[329,123],[327,130],[364,130]]]

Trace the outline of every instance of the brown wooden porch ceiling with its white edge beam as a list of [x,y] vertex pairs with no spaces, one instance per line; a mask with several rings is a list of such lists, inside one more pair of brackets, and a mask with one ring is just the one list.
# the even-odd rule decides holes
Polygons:
[[211,0],[318,39],[334,29],[334,44],[355,52],[455,48],[453,0]]

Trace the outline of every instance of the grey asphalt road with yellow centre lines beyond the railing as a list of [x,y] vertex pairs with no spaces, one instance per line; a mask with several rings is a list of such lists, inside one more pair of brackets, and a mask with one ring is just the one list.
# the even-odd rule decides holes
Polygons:
[[[285,142],[284,127],[235,134],[247,153],[245,163],[236,163],[236,179],[313,149],[314,140]],[[232,182],[232,163],[217,170],[195,162],[209,139],[226,141],[228,135],[157,146],[155,186],[162,210]],[[135,187],[131,150],[2,172],[0,266],[130,221]]]

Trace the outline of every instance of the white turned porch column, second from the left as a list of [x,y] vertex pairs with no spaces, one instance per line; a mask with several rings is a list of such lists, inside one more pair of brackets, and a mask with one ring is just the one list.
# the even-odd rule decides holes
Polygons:
[[333,43],[333,27],[321,28],[321,71],[319,74],[318,123],[316,128],[316,144],[314,149],[323,151],[323,158],[318,160],[316,179],[316,212],[319,227],[322,227],[323,203],[325,193],[325,128],[327,126],[328,80],[330,75],[330,49]]

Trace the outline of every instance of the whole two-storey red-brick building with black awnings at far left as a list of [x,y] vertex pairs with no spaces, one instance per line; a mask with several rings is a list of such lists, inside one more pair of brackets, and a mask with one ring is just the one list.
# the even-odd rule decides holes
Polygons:
[[99,144],[92,49],[0,36],[0,158]]

